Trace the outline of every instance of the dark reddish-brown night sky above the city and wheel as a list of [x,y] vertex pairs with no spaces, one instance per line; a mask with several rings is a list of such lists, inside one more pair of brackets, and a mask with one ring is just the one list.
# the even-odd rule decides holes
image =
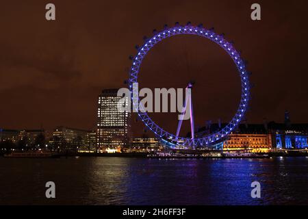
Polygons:
[[[250,18],[260,3],[261,21]],[[47,3],[56,21],[45,19]],[[308,123],[307,1],[1,1],[0,127],[95,129],[102,89],[126,86],[136,44],[153,29],[191,21],[214,27],[242,51],[251,71],[248,123]],[[193,90],[196,126],[229,122],[240,101],[240,77],[218,45],[175,36],[153,48],[140,87]],[[151,114],[175,132],[177,114]],[[133,119],[135,136],[143,125]],[[183,129],[187,131],[187,129]],[[184,133],[184,132],[183,132]]]

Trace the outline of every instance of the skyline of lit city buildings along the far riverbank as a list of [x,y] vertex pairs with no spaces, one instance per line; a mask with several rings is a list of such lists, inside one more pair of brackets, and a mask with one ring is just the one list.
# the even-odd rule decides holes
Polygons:
[[[81,130],[70,127],[55,127],[52,132],[43,129],[12,130],[0,129],[1,150],[49,150],[61,153],[159,153],[172,149],[166,140],[157,136],[152,138],[145,134],[142,137],[131,138],[129,132],[129,116],[123,114],[118,120],[114,118],[114,90],[105,90],[101,94],[102,105],[98,118],[105,118],[98,124],[97,130]],[[115,122],[115,123],[114,123]],[[207,126],[196,129],[196,138],[204,138],[209,133],[221,130],[225,123],[207,123]],[[219,151],[251,151],[252,153],[270,153],[279,150],[307,151],[308,124],[293,124],[290,115],[285,112],[284,123],[266,122],[263,124],[248,124],[244,121],[238,125],[227,138],[209,145]],[[190,136],[190,133],[188,133]],[[202,146],[198,150],[202,151]],[[205,147],[207,150],[207,147]]]

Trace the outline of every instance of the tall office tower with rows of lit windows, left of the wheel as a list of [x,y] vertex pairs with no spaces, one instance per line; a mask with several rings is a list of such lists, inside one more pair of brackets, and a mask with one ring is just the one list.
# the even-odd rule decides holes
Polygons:
[[[99,95],[98,122],[97,122],[97,146],[99,152],[116,151],[123,149],[130,142],[130,118],[129,112],[120,112],[118,103],[127,105],[126,99],[117,96],[118,89],[103,90]],[[120,101],[120,102],[119,102]]]

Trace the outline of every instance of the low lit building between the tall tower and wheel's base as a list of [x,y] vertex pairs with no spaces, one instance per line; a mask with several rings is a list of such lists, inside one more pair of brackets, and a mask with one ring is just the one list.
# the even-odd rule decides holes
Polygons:
[[136,152],[162,151],[162,149],[164,146],[157,138],[134,138],[131,145],[131,151]]

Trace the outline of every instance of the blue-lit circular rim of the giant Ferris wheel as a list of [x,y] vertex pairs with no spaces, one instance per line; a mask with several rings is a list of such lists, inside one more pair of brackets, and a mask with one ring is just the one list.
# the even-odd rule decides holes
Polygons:
[[[176,142],[176,136],[174,134],[165,131],[156,123],[154,123],[153,120],[149,117],[149,115],[144,112],[142,105],[139,105],[138,107],[138,104],[140,103],[140,99],[138,96],[138,88],[134,88],[133,83],[138,83],[139,68],[146,53],[148,53],[151,48],[155,46],[155,44],[164,40],[165,38],[180,34],[202,36],[203,38],[207,38],[212,42],[218,44],[220,47],[222,47],[222,49],[224,49],[224,51],[227,51],[227,53],[230,55],[233,62],[238,68],[238,72],[242,81],[242,96],[240,105],[235,116],[231,119],[230,123],[224,128],[222,128],[220,131],[217,131],[216,133],[211,133],[203,138],[195,138],[194,140],[192,140],[191,138],[178,137]],[[209,146],[211,144],[219,142],[220,140],[222,140],[222,138],[228,136],[229,133],[231,133],[231,131],[233,131],[235,127],[238,126],[242,118],[244,118],[244,114],[247,110],[249,101],[249,78],[244,60],[242,60],[242,58],[240,57],[240,53],[236,51],[231,42],[227,42],[227,40],[225,40],[223,36],[216,34],[211,29],[186,25],[165,28],[163,31],[159,31],[157,34],[155,34],[152,38],[146,40],[142,47],[138,48],[138,53],[135,57],[133,57],[133,64],[131,65],[131,70],[129,73],[129,90],[131,91],[131,101],[133,103],[134,110],[138,112],[138,116],[140,120],[142,120],[144,125],[146,125],[148,129],[155,133],[155,136],[162,139],[163,141],[168,142],[171,146],[177,146],[179,144],[183,146]],[[138,96],[138,98],[133,99],[133,96],[135,95]]]

